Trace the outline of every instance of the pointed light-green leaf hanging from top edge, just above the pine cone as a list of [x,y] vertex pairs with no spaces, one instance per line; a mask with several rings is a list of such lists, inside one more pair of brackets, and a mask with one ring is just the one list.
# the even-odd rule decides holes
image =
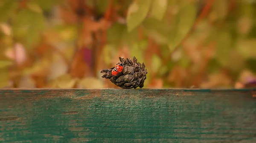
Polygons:
[[129,6],[126,17],[128,32],[134,30],[143,22],[148,14],[150,5],[151,0],[134,0]]

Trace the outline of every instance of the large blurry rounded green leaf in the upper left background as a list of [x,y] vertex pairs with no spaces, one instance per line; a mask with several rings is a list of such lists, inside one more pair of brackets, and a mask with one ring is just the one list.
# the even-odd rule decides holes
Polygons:
[[13,34],[26,47],[31,47],[40,39],[40,34],[46,29],[45,18],[42,14],[23,9],[13,20]]

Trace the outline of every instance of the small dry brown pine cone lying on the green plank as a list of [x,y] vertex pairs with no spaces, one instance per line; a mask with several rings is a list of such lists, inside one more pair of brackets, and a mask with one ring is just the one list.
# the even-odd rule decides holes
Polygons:
[[145,69],[145,64],[140,64],[140,62],[138,63],[135,56],[133,62],[129,58],[127,58],[126,61],[123,57],[119,57],[119,60],[123,64],[122,72],[113,76],[112,70],[114,69],[114,67],[111,69],[101,70],[101,73],[105,73],[104,75],[102,75],[102,78],[110,79],[113,84],[116,84],[121,88],[142,88],[144,86],[146,74],[148,73],[148,70]]

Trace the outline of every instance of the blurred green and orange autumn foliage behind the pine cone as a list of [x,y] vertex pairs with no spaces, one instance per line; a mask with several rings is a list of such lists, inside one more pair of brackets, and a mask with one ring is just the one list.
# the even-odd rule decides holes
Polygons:
[[1,0],[0,88],[117,88],[99,71],[144,62],[143,88],[255,83],[256,0]]

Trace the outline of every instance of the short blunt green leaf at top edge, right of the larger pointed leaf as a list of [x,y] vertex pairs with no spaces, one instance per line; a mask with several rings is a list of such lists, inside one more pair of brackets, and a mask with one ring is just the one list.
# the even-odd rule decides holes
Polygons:
[[162,20],[168,6],[167,0],[153,0],[151,15],[157,20]]

